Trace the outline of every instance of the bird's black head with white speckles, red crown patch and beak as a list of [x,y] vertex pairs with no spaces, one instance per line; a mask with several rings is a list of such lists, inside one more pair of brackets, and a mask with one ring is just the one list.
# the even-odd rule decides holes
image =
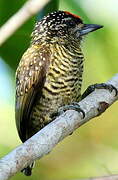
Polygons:
[[79,16],[67,11],[55,11],[36,23],[32,38],[37,44],[40,41],[80,42],[83,36],[102,27],[97,24],[84,24]]

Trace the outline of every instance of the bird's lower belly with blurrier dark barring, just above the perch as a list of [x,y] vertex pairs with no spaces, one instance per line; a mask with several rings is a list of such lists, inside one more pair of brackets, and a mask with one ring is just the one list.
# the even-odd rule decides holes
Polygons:
[[59,107],[79,101],[80,84],[78,82],[62,89],[50,88],[51,86],[45,83],[41,97],[37,96],[29,121],[27,132],[29,137],[51,122],[51,114],[58,111]]

